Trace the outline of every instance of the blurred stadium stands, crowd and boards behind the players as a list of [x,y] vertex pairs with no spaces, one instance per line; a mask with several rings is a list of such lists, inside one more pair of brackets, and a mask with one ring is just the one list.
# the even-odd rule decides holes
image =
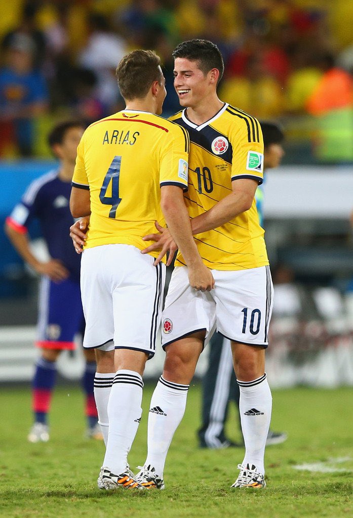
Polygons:
[[[114,69],[134,48],[162,57],[167,117],[179,109],[171,51],[180,40],[205,37],[224,56],[220,97],[278,121],[286,134],[283,165],[265,185],[276,285],[271,384],[353,384],[352,26],[349,0],[12,0],[2,9],[1,70],[16,52],[32,62],[44,87],[24,120],[24,141],[23,119],[11,116],[18,92],[0,98],[0,382],[32,376],[37,278],[2,227],[26,186],[54,164],[49,128],[122,108]],[[32,233],[37,253],[45,254],[38,230]],[[149,362],[146,377],[160,373],[162,357]],[[81,365],[79,353],[61,358],[63,380],[78,379]]]

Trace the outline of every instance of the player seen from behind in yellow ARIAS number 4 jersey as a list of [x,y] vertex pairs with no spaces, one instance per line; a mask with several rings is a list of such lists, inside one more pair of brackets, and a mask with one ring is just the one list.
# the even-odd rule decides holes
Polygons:
[[[118,65],[126,109],[91,124],[77,150],[70,209],[90,215],[81,261],[86,331],[95,349],[95,398],[106,441],[98,487],[143,488],[127,456],[141,418],[143,372],[156,349],[165,265],[143,255],[142,236],[161,219],[188,265],[193,290],[211,290],[183,200],[188,133],[158,114],[166,95],[159,57],[136,50]],[[164,223],[164,224],[165,224]]]

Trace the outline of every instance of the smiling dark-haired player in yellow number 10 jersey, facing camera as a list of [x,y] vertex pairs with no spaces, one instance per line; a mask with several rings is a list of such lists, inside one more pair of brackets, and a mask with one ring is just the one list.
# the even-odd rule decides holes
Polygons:
[[[245,456],[232,487],[264,487],[264,450],[272,397],[265,374],[265,349],[273,286],[259,225],[255,191],[263,178],[263,139],[259,122],[217,96],[222,56],[213,43],[191,40],[173,52],[174,86],[181,112],[171,118],[190,135],[185,203],[203,262],[215,288],[201,293],[188,283],[181,250],[162,316],[166,352],[148,421],[148,454],[136,480],[162,488],[168,447],[186,406],[189,384],[213,330],[231,340],[240,388],[239,409]],[[176,245],[168,229],[147,235],[157,243],[146,251]]]

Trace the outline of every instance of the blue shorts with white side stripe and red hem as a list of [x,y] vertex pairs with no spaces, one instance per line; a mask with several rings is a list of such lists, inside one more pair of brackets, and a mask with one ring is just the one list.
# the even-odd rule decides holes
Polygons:
[[39,290],[36,346],[46,349],[75,349],[74,338],[83,335],[84,317],[79,280],[56,283],[43,277]]

